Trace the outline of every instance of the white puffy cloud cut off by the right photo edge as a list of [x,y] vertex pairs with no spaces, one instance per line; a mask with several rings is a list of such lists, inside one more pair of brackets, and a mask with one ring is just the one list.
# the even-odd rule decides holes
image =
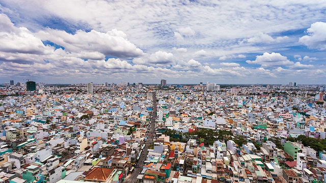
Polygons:
[[326,50],[326,23],[315,22],[307,29],[306,36],[299,39],[299,43],[306,45],[310,49]]

